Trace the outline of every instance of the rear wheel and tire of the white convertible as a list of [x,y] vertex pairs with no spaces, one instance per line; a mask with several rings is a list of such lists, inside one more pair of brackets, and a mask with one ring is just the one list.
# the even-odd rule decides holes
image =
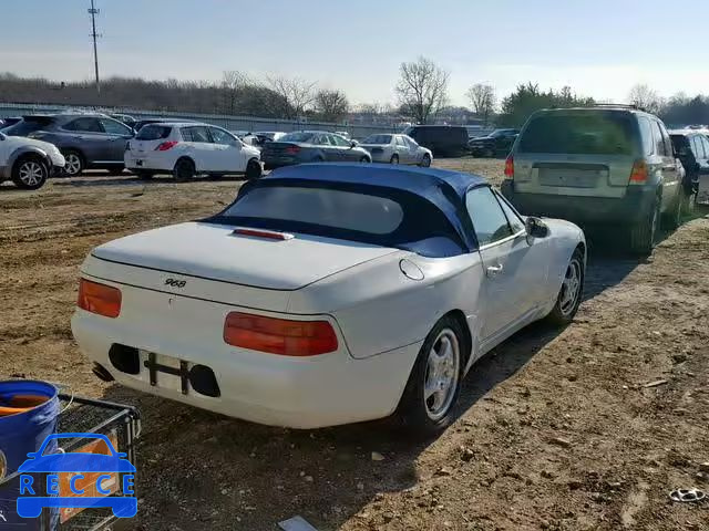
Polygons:
[[[419,351],[394,413],[399,426],[417,436],[429,437],[453,421],[470,352],[467,337],[460,321],[451,315],[433,326]],[[440,391],[432,391],[436,387]]]

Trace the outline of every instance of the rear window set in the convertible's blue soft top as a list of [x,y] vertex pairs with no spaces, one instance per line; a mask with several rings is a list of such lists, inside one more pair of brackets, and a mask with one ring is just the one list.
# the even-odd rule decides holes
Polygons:
[[226,216],[319,225],[336,229],[388,235],[403,219],[401,206],[391,199],[326,188],[257,188],[225,212]]

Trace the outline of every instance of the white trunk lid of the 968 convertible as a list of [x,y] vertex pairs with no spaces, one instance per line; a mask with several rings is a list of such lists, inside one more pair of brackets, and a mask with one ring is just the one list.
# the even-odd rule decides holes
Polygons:
[[188,222],[112,241],[94,249],[92,257],[112,268],[143,269],[146,278],[175,273],[178,278],[173,280],[186,280],[181,293],[188,294],[189,285],[198,284],[196,280],[292,291],[395,251],[308,235],[270,240],[234,235],[234,227]]

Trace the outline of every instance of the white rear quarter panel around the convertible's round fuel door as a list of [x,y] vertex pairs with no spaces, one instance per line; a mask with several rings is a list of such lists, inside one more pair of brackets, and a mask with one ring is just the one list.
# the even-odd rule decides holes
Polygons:
[[[423,272],[411,280],[407,259]],[[405,251],[367,262],[294,292],[288,312],[327,313],[337,320],[350,354],[366,358],[425,339],[444,314],[463,312],[476,337],[482,279],[479,253],[427,259]]]

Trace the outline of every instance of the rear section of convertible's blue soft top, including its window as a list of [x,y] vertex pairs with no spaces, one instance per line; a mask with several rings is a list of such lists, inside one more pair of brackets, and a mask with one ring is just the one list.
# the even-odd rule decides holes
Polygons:
[[386,187],[275,180],[245,185],[236,201],[205,221],[281,230],[422,256],[456,256],[463,242],[445,214],[429,200]]

